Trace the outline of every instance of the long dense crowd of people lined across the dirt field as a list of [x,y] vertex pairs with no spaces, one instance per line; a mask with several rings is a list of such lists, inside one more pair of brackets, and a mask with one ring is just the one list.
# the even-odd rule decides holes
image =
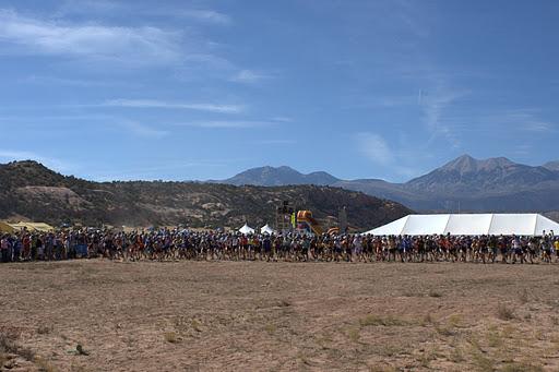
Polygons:
[[559,237],[250,235],[160,229],[20,231],[0,236],[1,262],[105,257],[123,261],[559,262]]

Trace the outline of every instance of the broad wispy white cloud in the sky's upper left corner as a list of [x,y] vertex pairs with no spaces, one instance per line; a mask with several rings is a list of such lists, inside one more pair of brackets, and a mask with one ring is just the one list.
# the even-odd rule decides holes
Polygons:
[[168,64],[181,58],[178,39],[177,33],[157,27],[116,27],[93,23],[76,25],[0,10],[3,52],[61,55],[132,64]]

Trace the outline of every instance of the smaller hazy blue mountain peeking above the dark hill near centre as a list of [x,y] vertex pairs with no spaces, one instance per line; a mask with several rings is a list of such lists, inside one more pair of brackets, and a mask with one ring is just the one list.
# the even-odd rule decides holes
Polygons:
[[340,181],[337,178],[324,172],[317,171],[304,175],[290,167],[260,167],[246,170],[223,181],[213,181],[235,185],[262,185],[275,187],[287,184],[317,184],[329,185]]

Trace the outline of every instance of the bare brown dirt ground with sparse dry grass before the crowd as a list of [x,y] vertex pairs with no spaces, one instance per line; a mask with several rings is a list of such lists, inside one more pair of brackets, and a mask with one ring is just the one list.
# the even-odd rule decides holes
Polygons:
[[559,265],[0,265],[2,371],[558,371],[558,325]]

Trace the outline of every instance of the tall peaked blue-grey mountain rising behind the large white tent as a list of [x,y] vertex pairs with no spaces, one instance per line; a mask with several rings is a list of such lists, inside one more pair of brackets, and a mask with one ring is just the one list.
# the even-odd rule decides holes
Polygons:
[[417,193],[418,200],[427,200],[429,208],[437,211],[539,212],[559,208],[559,172],[502,157],[478,160],[464,155],[402,187]]

